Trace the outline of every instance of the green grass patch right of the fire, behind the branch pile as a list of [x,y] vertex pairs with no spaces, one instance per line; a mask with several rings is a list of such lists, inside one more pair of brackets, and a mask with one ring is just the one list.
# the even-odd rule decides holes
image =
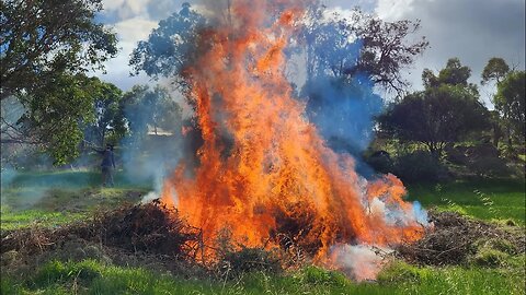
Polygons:
[[412,185],[409,199],[424,208],[458,211],[485,221],[513,220],[525,225],[525,182],[519,179],[458,180],[443,185]]

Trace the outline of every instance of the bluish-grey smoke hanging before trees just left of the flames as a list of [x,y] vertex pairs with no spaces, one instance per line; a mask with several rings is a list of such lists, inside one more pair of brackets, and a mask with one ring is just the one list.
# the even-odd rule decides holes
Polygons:
[[[153,191],[142,201],[157,199],[164,178],[183,155],[190,154],[181,133],[181,102],[176,93],[162,87],[135,87],[127,95],[129,104],[124,111],[132,133],[121,142],[124,177],[132,182],[151,184]],[[160,126],[153,127],[156,123]]]

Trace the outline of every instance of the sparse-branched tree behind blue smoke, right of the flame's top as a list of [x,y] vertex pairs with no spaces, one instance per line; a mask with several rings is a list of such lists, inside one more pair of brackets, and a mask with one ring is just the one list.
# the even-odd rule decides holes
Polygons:
[[350,80],[366,75],[376,85],[401,95],[408,85],[401,69],[428,46],[424,37],[408,40],[420,28],[419,21],[384,22],[358,9],[351,17],[334,13],[328,20],[323,8],[315,8],[307,23],[304,39],[308,79],[319,74]]

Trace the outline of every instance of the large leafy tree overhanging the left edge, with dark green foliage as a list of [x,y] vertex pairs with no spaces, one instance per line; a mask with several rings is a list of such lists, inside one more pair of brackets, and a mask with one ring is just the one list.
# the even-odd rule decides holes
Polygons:
[[[96,84],[84,75],[117,52],[116,36],[94,22],[101,0],[7,0],[0,10],[0,98],[24,109],[4,118],[2,143],[36,144],[55,164],[78,155],[82,128],[94,119]],[[3,131],[3,127],[2,127]]]

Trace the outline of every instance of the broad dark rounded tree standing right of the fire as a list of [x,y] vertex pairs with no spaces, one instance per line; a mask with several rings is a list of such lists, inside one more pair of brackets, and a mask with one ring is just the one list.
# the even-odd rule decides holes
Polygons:
[[426,70],[423,78],[424,91],[407,95],[378,120],[395,138],[421,142],[439,158],[446,143],[485,130],[489,111],[474,85],[467,84],[469,68],[458,59],[450,59],[438,76]]

